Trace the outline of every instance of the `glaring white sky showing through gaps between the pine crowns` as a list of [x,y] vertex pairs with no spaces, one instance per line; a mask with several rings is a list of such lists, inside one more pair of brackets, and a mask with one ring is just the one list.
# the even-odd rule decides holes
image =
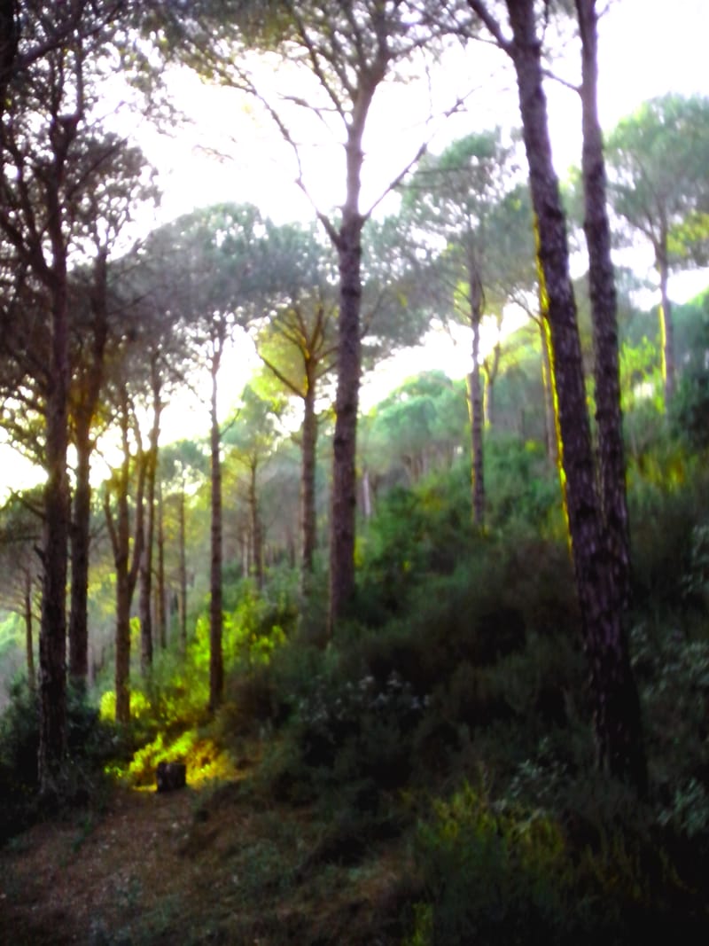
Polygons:
[[[612,129],[621,117],[652,96],[668,91],[709,95],[707,36],[707,0],[672,0],[671,4],[666,0],[614,0],[600,32],[599,109],[604,128]],[[490,79],[493,65],[489,51],[483,49],[475,57],[469,53],[464,59],[458,56],[455,62],[446,63],[439,81],[444,107],[461,91],[481,86],[483,80],[484,88],[471,97],[466,114],[437,126],[434,150],[467,131],[506,120],[510,124],[518,122],[510,74],[500,74],[497,69]],[[474,78],[476,66],[479,71]],[[276,73],[274,78],[282,80],[283,75]],[[575,78],[572,72],[568,78]],[[312,219],[312,207],[294,184],[296,166],[292,155],[271,126],[259,125],[233,92],[208,88],[189,73],[176,77],[174,88],[182,107],[193,116],[194,125],[178,131],[170,140],[157,137],[149,129],[142,131],[143,147],[159,170],[164,191],[162,205],[154,218],[144,221],[146,227],[216,201],[250,201],[278,221]],[[555,161],[563,176],[568,166],[579,162],[578,96],[559,84],[550,85],[547,94]],[[421,100],[421,90],[414,94],[401,83],[377,94],[366,142],[369,160],[365,167],[365,202],[379,196],[430,131],[424,125],[426,114],[418,110]],[[210,153],[213,151],[224,157],[217,159]],[[326,140],[313,141],[303,154],[305,182],[320,209],[327,211],[341,201],[341,149]],[[695,284],[685,289],[683,282],[687,281],[676,277],[670,286],[678,300],[699,288]],[[378,376],[386,373],[389,386],[393,386],[424,368],[443,366],[459,377],[468,363],[467,339],[454,344],[443,335],[427,340],[406,360],[381,366]],[[245,380],[244,371],[237,353],[233,367],[225,374],[236,379],[238,390]],[[225,400],[233,394],[225,391]],[[365,391],[365,405],[371,400]],[[206,407],[189,410],[191,421],[180,406],[178,435],[198,435],[202,429],[206,432]],[[167,412],[168,429],[171,413],[176,412]]]

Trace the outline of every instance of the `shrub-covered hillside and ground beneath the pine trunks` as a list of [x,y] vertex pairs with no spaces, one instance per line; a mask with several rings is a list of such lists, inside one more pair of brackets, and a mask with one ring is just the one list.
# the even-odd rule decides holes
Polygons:
[[[475,536],[464,477],[433,476],[372,519],[329,646],[285,573],[232,589],[215,717],[199,622],[186,658],[136,687],[130,730],[106,718],[110,693],[75,697],[51,813],[18,686],[0,731],[0,940],[705,942],[705,487],[698,465],[631,490],[648,797],[595,767],[553,490],[498,496],[525,517]],[[187,764],[185,790],[154,791],[164,760]]]

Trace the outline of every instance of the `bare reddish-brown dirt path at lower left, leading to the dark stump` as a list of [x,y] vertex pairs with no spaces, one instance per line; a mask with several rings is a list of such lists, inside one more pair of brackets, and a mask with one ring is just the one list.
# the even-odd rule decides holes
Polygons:
[[[38,825],[0,852],[0,942],[137,941],[146,902],[192,887],[181,852],[196,793],[117,790],[102,815]],[[121,931],[126,936],[121,936]]]

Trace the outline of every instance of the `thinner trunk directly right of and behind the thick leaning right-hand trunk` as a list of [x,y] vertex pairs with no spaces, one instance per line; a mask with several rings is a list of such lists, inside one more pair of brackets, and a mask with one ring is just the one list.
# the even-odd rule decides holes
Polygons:
[[606,169],[598,120],[596,0],[576,0],[581,37],[583,229],[589,257],[589,295],[594,331],[596,421],[603,520],[611,547],[618,607],[631,595],[631,541],[626,497],[623,417],[620,408],[618,319],[611,225],[606,209]]

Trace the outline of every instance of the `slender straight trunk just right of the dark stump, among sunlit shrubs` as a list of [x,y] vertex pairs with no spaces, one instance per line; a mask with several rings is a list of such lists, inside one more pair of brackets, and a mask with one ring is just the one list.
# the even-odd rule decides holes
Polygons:
[[221,512],[221,437],[216,411],[216,378],[221,359],[221,343],[216,342],[212,355],[212,405],[210,443],[212,456],[212,558],[210,571],[209,604],[209,710],[216,712],[224,693],[224,657],[222,654],[222,629],[224,623],[222,604],[222,512]]

